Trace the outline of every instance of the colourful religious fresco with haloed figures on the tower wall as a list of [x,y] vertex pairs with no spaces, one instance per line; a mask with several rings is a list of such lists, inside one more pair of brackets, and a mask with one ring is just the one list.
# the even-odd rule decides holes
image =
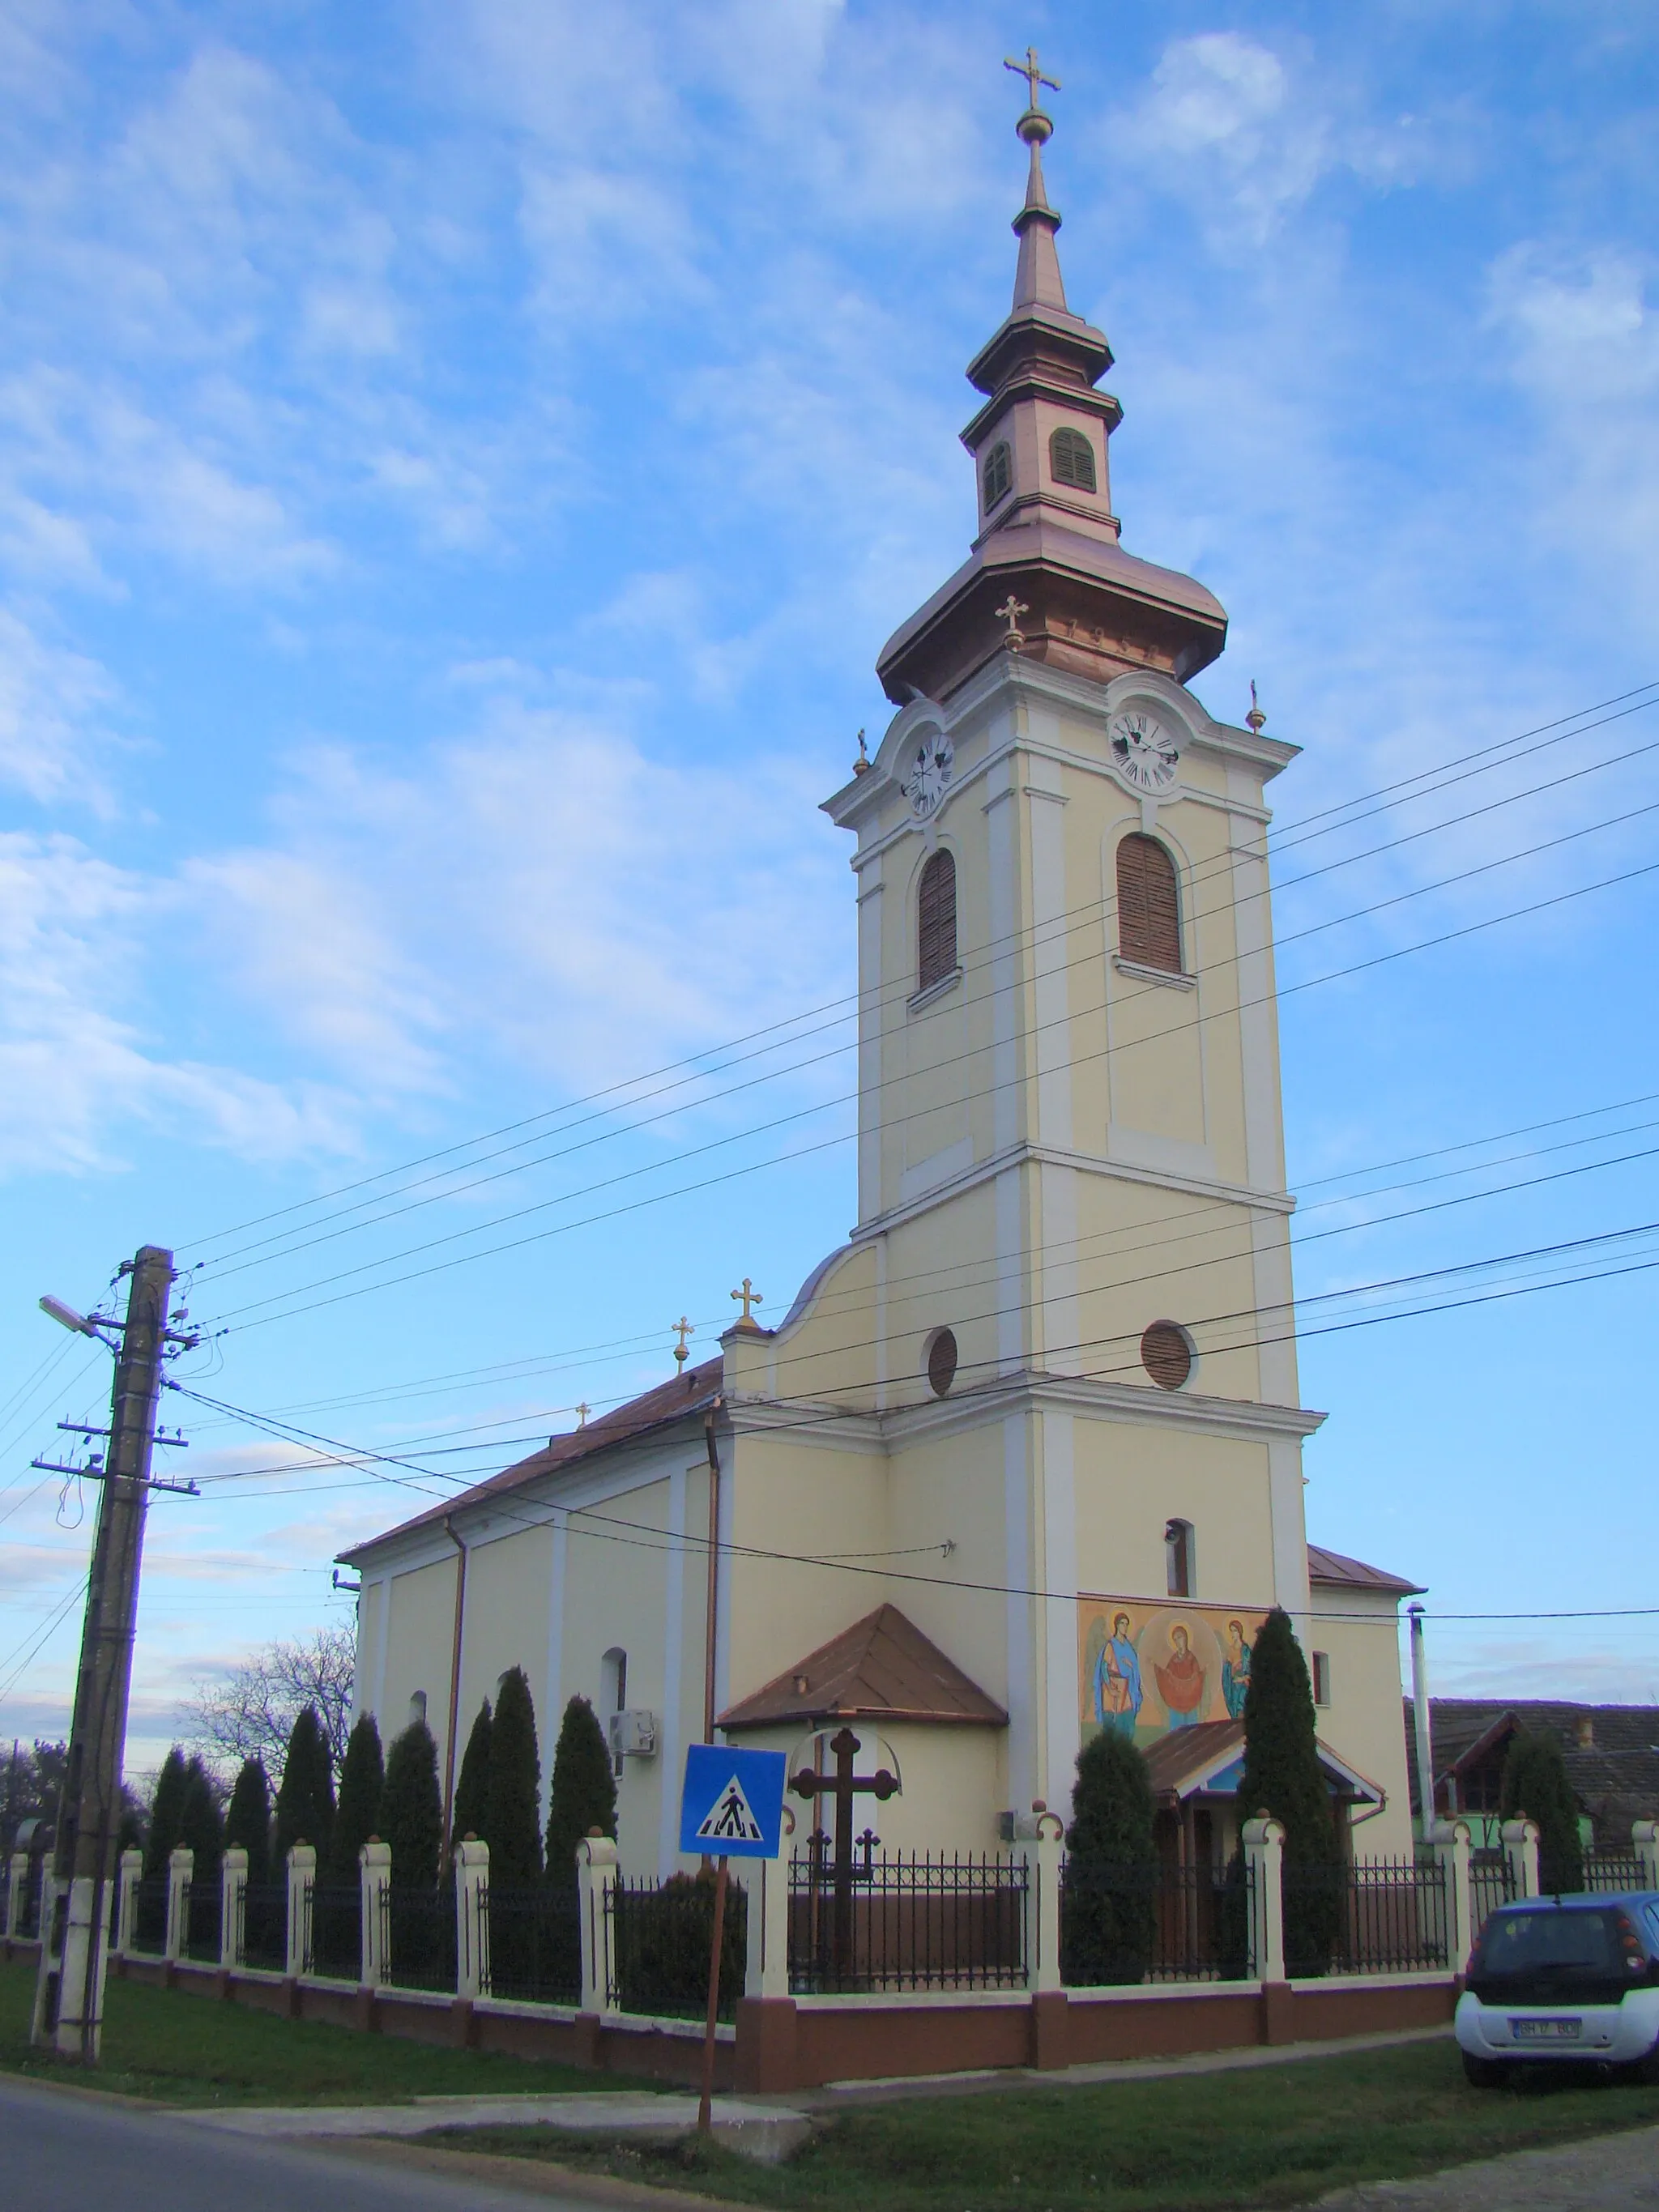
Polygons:
[[1079,1597],[1082,1741],[1115,1728],[1146,1750],[1172,1728],[1241,1721],[1265,1619],[1265,1610],[1183,1599]]

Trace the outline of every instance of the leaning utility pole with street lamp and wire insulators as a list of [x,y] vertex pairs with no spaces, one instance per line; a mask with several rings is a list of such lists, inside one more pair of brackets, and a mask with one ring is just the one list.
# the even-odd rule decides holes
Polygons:
[[[42,1898],[40,1980],[31,2026],[31,2042],[49,2044],[62,2057],[77,2057],[86,2066],[97,2064],[104,2033],[108,1909],[161,1352],[170,1338],[190,1343],[168,1329],[173,1254],[159,1245],[142,1245],[137,1259],[124,1263],[122,1272],[131,1279],[126,1327],[111,1391],[111,1433],[93,1564],[86,1577],[75,1719],[58,1807],[51,1887]],[[42,1298],[42,1305],[66,1327],[97,1336],[100,1321],[82,1321],[58,1301]]]

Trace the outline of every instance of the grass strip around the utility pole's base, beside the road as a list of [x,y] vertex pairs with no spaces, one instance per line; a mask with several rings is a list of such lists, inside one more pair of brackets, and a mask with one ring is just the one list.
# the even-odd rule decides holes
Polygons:
[[319,2020],[276,2020],[181,1989],[122,1980],[111,1980],[104,2000],[104,2064],[88,2070],[29,2048],[33,1997],[33,1964],[0,1964],[0,2068],[159,2104],[403,2104],[409,2097],[661,2086],[489,2051],[358,2035]]

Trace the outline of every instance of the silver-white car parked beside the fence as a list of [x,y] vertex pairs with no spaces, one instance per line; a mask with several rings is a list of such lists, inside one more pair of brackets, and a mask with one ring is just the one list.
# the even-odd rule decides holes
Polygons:
[[1659,1891],[1528,1898],[1486,1918],[1458,1997],[1462,2068],[1619,2066],[1659,2081]]

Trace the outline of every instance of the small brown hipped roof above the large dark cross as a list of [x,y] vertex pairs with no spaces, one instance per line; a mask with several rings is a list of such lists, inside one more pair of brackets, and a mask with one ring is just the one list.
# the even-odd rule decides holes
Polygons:
[[721,1728],[776,1721],[1006,1728],[1009,1717],[898,1606],[878,1606],[719,1717]]

